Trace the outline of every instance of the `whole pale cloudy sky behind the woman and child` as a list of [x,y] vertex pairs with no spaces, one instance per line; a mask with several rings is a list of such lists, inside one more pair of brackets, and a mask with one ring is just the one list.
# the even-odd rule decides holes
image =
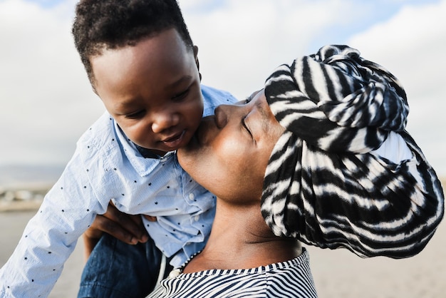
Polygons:
[[[244,99],[276,66],[346,44],[397,76],[446,177],[446,0],[179,0],[202,83]],[[65,165],[105,109],[73,45],[76,0],[0,0],[0,166]]]

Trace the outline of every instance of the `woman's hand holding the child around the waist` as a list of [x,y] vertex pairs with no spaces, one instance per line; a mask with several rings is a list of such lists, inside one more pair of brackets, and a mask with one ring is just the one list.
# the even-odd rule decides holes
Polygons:
[[[156,217],[145,215],[147,220],[154,221]],[[106,232],[113,237],[129,245],[135,245],[138,242],[147,242],[149,235],[142,225],[140,215],[128,215],[120,212],[112,202],[108,204],[107,212],[103,215],[97,215],[93,224],[83,233],[84,257],[85,260],[90,257],[93,248],[100,240],[100,237]]]

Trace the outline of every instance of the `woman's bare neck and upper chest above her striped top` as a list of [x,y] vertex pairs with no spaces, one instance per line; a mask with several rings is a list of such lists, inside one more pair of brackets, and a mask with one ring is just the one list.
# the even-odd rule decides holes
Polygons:
[[300,254],[299,242],[273,235],[261,216],[259,203],[231,205],[217,199],[207,245],[183,272],[254,268],[291,260]]

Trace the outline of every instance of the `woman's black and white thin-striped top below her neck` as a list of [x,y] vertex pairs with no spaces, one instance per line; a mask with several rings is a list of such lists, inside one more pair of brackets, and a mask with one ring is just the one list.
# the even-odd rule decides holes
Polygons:
[[[175,271],[174,271],[175,272]],[[251,269],[211,269],[162,280],[147,298],[318,297],[308,252],[293,260]]]

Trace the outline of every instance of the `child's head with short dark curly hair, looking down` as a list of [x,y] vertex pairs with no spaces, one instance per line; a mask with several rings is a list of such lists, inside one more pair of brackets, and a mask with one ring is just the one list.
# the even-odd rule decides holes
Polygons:
[[81,0],[73,36],[93,90],[133,143],[162,155],[189,142],[203,100],[175,0]]

